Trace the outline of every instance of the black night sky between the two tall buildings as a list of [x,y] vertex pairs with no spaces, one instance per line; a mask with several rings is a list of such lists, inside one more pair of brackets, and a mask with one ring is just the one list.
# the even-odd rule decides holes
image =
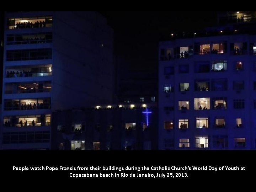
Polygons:
[[158,69],[158,43],[171,32],[193,32],[217,23],[214,11],[101,11],[114,30],[115,53],[131,70]]

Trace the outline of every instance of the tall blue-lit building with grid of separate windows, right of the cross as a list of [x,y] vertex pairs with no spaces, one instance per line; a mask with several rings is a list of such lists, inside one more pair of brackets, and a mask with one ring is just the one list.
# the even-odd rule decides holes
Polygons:
[[159,149],[255,149],[256,12],[159,45]]

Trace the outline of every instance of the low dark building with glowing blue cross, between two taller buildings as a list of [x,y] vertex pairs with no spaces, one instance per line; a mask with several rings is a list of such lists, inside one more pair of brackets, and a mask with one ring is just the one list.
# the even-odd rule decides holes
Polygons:
[[158,149],[156,103],[59,111],[52,118],[52,149]]

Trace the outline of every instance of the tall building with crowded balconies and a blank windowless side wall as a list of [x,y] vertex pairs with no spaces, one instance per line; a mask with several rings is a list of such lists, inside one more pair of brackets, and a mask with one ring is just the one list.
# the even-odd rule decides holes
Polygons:
[[6,12],[2,149],[50,149],[52,112],[112,103],[113,31],[97,12]]

